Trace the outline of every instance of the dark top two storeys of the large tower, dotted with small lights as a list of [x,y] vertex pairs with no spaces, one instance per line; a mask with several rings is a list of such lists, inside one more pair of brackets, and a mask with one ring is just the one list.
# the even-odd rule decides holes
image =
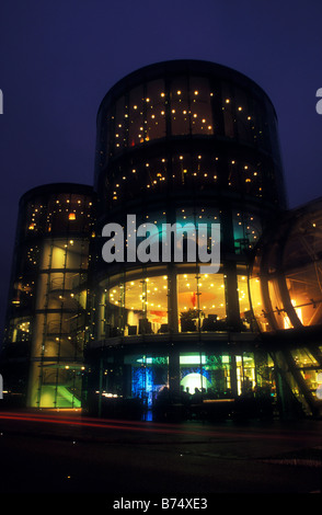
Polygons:
[[256,84],[205,62],[139,71],[112,88],[97,114],[95,187],[107,209],[166,187],[285,203],[276,115]]

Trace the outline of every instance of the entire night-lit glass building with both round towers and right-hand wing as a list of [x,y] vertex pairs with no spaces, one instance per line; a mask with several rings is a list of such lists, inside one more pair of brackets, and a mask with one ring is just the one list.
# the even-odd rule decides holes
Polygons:
[[[319,331],[310,346],[308,332],[290,345],[289,331],[319,325],[319,231],[298,255],[276,113],[252,80],[196,60],[128,75],[99,107],[93,188],[43,186],[20,213],[2,363],[24,367],[11,382],[27,405],[168,420],[319,416]],[[216,273],[205,260],[219,243],[215,225]]]

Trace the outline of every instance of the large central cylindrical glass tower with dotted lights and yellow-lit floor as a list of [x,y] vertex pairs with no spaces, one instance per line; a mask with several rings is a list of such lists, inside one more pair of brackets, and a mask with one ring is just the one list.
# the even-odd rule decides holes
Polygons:
[[[151,404],[162,386],[220,396],[261,386],[248,266],[263,228],[286,207],[276,114],[264,91],[194,60],[125,77],[99,110],[95,191],[87,348],[95,389]],[[129,214],[159,236],[163,224],[220,224],[218,273],[200,274],[197,259],[105,263],[103,227],[119,224],[129,234]]]

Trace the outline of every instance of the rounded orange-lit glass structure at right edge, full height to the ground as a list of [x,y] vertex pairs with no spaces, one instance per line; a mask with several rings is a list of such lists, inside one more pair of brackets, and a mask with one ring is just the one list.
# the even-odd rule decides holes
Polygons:
[[250,274],[254,316],[307,413],[322,410],[322,202],[288,211],[263,234]]

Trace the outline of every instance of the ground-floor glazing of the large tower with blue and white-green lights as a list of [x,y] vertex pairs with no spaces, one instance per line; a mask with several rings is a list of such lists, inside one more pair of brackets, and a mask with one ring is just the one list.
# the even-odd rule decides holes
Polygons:
[[[172,358],[171,354],[162,352],[128,352],[120,359],[103,359],[100,380],[103,402],[104,399],[131,398],[140,400],[149,410],[165,391],[169,403],[183,402],[187,399],[183,396],[188,396],[194,404],[237,398],[266,398],[276,402],[274,364],[266,353],[180,352],[177,392],[171,390]],[[96,396],[99,393],[96,391]]]

